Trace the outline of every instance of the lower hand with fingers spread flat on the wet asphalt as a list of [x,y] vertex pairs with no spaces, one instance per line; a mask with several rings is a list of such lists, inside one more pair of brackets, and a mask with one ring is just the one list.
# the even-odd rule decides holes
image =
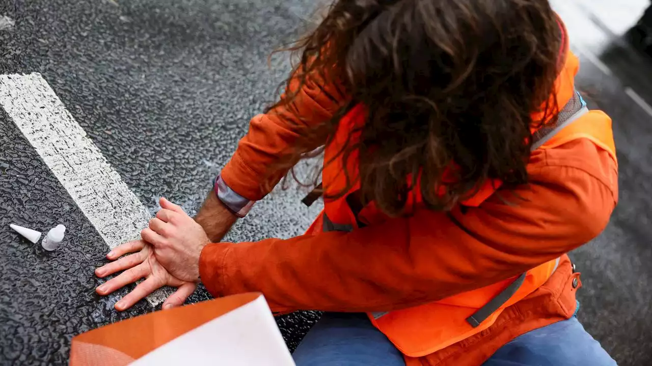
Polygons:
[[[126,253],[133,254],[120,258]],[[117,246],[106,257],[111,260],[120,259],[97,268],[95,274],[98,277],[104,278],[122,270],[125,270],[125,272],[98,286],[96,289],[98,294],[102,296],[108,295],[130,283],[145,278],[145,281],[139,283],[134,290],[115,303],[115,309],[118,311],[125,311],[145,298],[145,296],[166,285],[177,287],[177,291],[166,299],[163,303],[163,308],[179,306],[197,288],[196,282],[182,281],[171,275],[156,259],[153,247],[143,240],[134,240]]]

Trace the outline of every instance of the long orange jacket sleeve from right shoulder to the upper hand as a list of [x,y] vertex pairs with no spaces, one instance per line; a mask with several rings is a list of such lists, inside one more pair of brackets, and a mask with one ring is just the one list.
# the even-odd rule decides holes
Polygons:
[[217,243],[200,258],[213,296],[261,291],[273,311],[390,311],[520,274],[597,236],[617,167],[586,140],[537,150],[530,184],[466,214],[419,210],[350,233]]

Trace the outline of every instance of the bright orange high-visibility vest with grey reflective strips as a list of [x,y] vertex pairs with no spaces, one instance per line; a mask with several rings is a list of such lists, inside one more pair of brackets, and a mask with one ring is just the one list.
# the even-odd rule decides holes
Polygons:
[[[559,119],[554,126],[548,125],[537,130],[531,148],[549,149],[575,139],[589,139],[597,147],[610,152],[615,162],[611,119],[600,111],[589,111],[579,94],[574,92],[572,76],[577,68],[577,59],[572,53],[566,53],[563,66],[556,83],[556,97],[558,102],[564,103],[565,106],[559,111]],[[571,72],[566,72],[569,69]],[[571,98],[565,100],[567,96]],[[349,172],[352,180],[355,180],[359,174],[356,152],[351,154],[346,167],[342,160],[335,160],[335,157],[344,148],[345,143],[357,143],[359,132],[366,120],[365,115],[365,108],[361,105],[349,111],[340,120],[333,143],[325,149],[324,161],[333,163],[323,170],[323,188],[331,195],[346,188],[347,179],[344,171]],[[465,199],[461,204],[481,206],[500,185],[499,180],[486,182],[472,197]],[[323,210],[323,228],[312,229],[318,232],[349,232],[359,229],[360,225],[363,227],[383,225],[388,217],[376,209],[374,204],[359,209],[358,204],[350,203],[351,199],[355,199],[353,193],[359,188],[360,185],[357,183],[344,197],[327,200]],[[418,183],[414,191],[417,193],[420,191]],[[415,195],[414,199],[416,202],[408,199],[406,204],[408,212],[411,212],[414,207],[423,205],[421,195]],[[509,197],[506,199],[510,200]],[[512,197],[512,200],[518,204],[517,197]],[[397,311],[370,313],[369,317],[374,326],[385,333],[403,354],[411,357],[432,354],[492,326],[505,308],[526,298],[546,283],[556,271],[559,262],[559,258],[553,259],[518,277],[462,292],[438,302]]]

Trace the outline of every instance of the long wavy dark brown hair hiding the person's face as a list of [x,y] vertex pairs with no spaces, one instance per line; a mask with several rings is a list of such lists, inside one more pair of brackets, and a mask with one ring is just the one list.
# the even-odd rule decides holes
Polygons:
[[303,127],[283,164],[314,156],[315,141],[332,143],[342,116],[363,104],[361,139],[337,156],[357,150],[359,175],[344,172],[347,189],[325,199],[359,181],[363,204],[398,216],[417,187],[428,208],[447,210],[488,179],[524,184],[531,127],[559,110],[550,96],[561,33],[548,0],[335,1],[286,48],[301,57],[269,109],[291,106],[308,83],[332,83],[346,101],[325,124]]

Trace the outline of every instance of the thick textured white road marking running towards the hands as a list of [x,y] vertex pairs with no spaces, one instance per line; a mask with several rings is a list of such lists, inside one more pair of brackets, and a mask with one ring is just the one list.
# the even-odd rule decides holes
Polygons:
[[[70,197],[114,247],[140,238],[151,215],[40,74],[0,75],[2,106]],[[94,275],[90,272],[89,275]],[[170,289],[147,300],[165,300]]]

